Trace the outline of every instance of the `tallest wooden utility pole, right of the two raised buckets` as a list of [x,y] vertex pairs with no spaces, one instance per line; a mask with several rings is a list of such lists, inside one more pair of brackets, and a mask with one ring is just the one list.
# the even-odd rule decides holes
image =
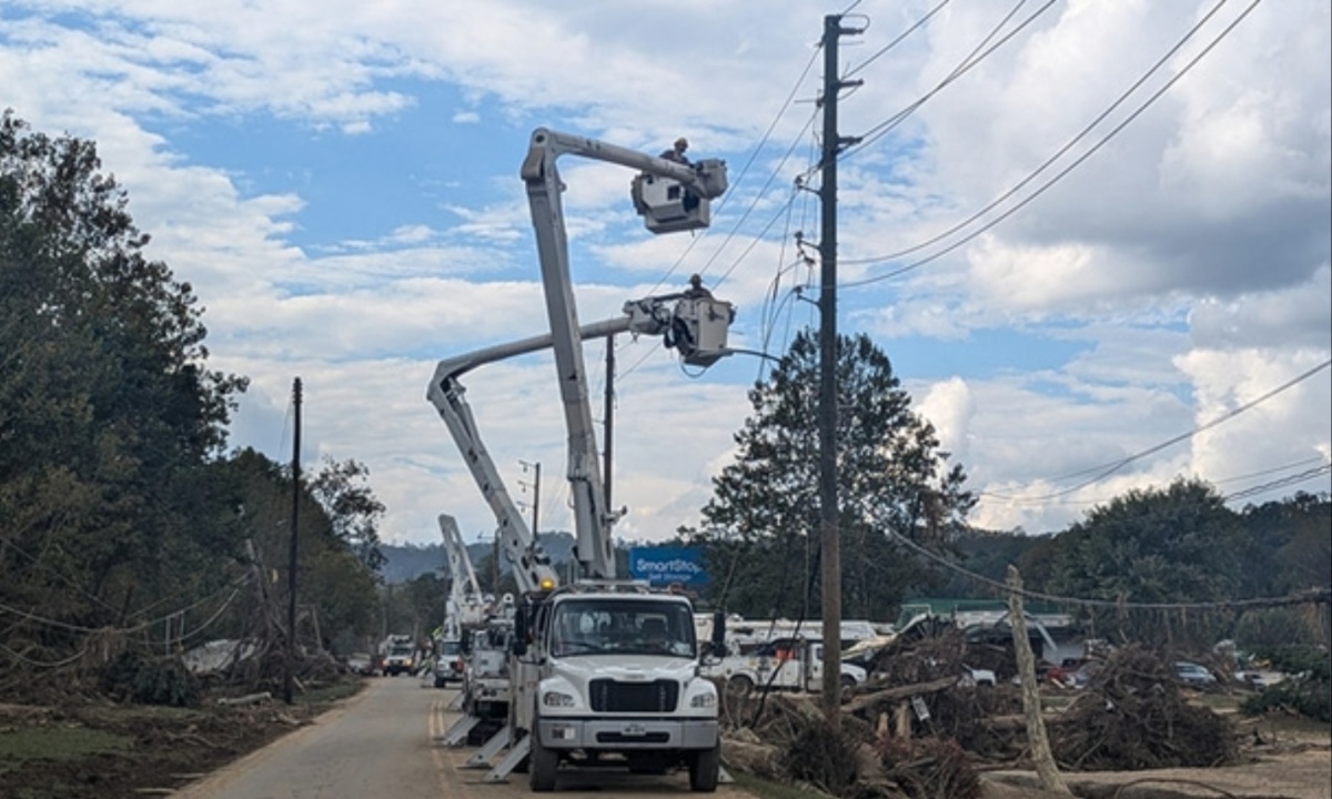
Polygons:
[[836,129],[838,92],[859,85],[838,77],[838,39],[860,33],[843,28],[840,15],[823,17],[823,154],[819,204],[819,565],[823,606],[823,712],[840,720],[842,699],[842,541],[836,491],[836,157],[854,144]]

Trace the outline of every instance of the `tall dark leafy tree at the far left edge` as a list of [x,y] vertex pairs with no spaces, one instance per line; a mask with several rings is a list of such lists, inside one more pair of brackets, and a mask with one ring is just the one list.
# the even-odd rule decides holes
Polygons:
[[0,595],[83,626],[226,578],[194,566],[234,545],[209,466],[246,384],[206,369],[189,284],[99,169],[0,116]]

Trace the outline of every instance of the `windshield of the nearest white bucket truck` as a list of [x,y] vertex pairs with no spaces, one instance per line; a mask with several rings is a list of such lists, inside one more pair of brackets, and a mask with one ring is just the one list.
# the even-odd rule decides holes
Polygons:
[[697,657],[694,615],[683,602],[567,599],[550,621],[557,658],[597,654]]

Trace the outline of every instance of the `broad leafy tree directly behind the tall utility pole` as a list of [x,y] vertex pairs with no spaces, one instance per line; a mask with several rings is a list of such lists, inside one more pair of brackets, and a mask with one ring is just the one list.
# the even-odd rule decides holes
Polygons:
[[[838,491],[843,613],[882,618],[932,575],[894,537],[944,543],[974,498],[887,356],[867,337],[838,340]],[[713,479],[706,526],[710,598],[755,617],[813,618],[818,609],[818,340],[797,336],[735,435],[737,462]]]

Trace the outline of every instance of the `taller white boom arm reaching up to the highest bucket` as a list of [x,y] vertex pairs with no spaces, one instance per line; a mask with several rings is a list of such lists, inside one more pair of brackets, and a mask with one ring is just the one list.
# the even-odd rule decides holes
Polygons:
[[565,234],[563,208],[559,198],[563,185],[559,180],[559,170],[555,168],[555,160],[565,153],[609,161],[678,181],[682,190],[693,193],[701,202],[719,197],[726,190],[726,168],[721,161],[701,161],[698,165],[690,166],[665,158],[654,158],[621,146],[546,128],[538,128],[533,132],[527,157],[522,162],[522,180],[527,186],[527,204],[531,209],[537,252],[541,257],[541,278],[546,293],[546,313],[550,317],[551,345],[555,350],[559,396],[563,401],[565,425],[569,430],[567,477],[578,537],[577,557],[582,563],[583,577],[611,579],[615,577],[615,557],[610,527],[617,521],[617,515],[606,507],[602,491],[595,430],[591,406],[587,401],[587,378],[578,329],[578,310],[574,302],[573,281],[569,277],[569,240]]

